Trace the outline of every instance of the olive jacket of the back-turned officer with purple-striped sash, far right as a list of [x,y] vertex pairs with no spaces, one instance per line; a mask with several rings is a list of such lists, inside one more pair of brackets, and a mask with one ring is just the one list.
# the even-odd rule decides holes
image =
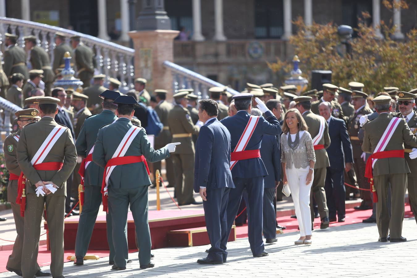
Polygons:
[[[362,150],[365,153],[374,153],[379,140],[392,118],[393,116],[388,113],[381,113],[375,120],[371,120],[364,124],[364,141],[362,144]],[[399,121],[399,124],[394,130],[394,133],[384,151],[404,150],[403,143],[408,145],[410,148],[417,148],[417,137],[413,135],[404,119]],[[374,176],[401,173],[410,173],[407,162],[404,158],[381,158],[375,162],[373,171]]]

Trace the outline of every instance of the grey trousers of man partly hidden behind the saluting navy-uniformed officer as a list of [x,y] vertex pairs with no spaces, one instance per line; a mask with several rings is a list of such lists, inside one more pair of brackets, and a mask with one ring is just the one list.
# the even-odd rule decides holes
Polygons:
[[276,237],[276,209],[274,207],[275,188],[264,188],[264,206],[262,231],[264,237],[271,239]]

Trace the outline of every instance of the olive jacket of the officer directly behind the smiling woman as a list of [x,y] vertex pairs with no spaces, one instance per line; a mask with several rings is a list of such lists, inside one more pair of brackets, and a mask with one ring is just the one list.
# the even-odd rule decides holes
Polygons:
[[[319,134],[320,131],[320,118],[322,118],[322,116],[316,115],[311,111],[306,111],[303,113],[303,118],[306,121],[307,126],[309,127],[308,131],[311,135],[311,138],[316,137],[316,135]],[[314,169],[329,167],[329,156],[327,156],[326,149],[330,146],[330,137],[326,121],[324,134],[322,136],[322,139],[320,139],[320,141],[317,144],[324,145],[324,149],[314,150],[314,153],[316,154],[316,163],[314,164]]]

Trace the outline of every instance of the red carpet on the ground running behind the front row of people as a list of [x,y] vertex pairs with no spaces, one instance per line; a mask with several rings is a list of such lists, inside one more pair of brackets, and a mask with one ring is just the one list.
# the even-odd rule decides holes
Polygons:
[[[362,220],[368,218],[371,214],[372,214],[372,210],[355,210],[353,208],[347,209],[346,218],[345,218],[346,222],[344,223],[332,222],[330,223],[330,227],[349,225],[349,224],[354,224],[354,223],[362,223]],[[412,216],[413,215],[410,211],[410,206],[409,204],[407,204],[405,206],[405,217],[409,218]],[[298,223],[296,219],[290,218],[290,216],[282,216],[282,217],[278,217],[277,220],[280,225],[287,227],[286,230],[284,230],[284,233],[291,233],[291,232],[298,231],[297,230]],[[319,218],[316,218],[316,220],[314,221],[314,229],[320,229]],[[246,238],[248,236],[248,228],[246,224],[241,227],[237,227],[236,236],[237,238]],[[129,253],[136,252],[136,251],[137,250],[132,249],[132,250],[129,250]],[[7,271],[6,263],[7,263],[8,256],[10,255],[11,252],[12,252],[11,250],[0,251],[0,273]],[[108,250],[88,250],[87,254],[98,255],[100,258],[107,257]],[[68,262],[68,260],[66,260],[68,255],[74,255],[74,250],[65,251],[65,256],[64,256],[65,262]],[[39,246],[38,263],[40,266],[50,265],[50,251],[46,250],[46,245]]]

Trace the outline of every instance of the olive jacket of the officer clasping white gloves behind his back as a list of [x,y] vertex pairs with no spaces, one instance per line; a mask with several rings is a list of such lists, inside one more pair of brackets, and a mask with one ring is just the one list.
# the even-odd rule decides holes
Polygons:
[[43,117],[37,123],[25,125],[20,133],[17,157],[20,169],[27,178],[26,193],[35,193],[35,183],[42,180],[52,181],[58,187],[53,196],[66,196],[66,181],[77,163],[77,151],[68,128],[58,138],[43,160],[43,162],[62,162],[61,170],[38,171],[30,163],[42,143],[57,125],[58,123],[53,118]]

